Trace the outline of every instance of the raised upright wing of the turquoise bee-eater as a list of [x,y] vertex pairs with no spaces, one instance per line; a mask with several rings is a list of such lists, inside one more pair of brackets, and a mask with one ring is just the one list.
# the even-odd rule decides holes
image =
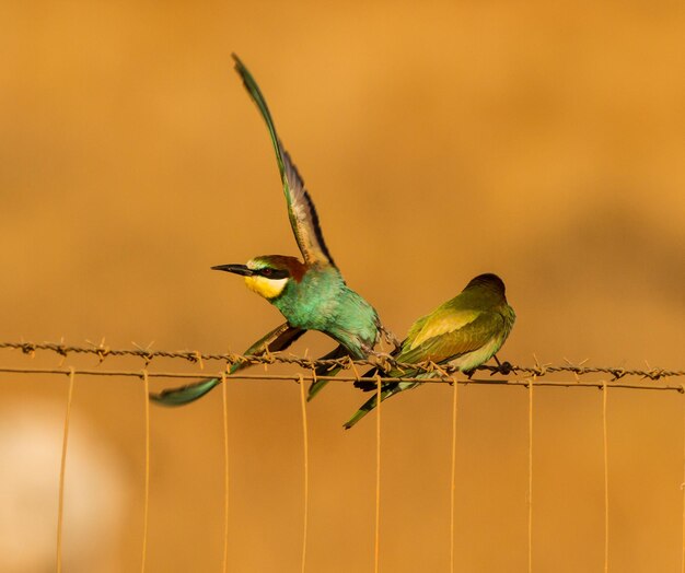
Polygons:
[[290,160],[290,155],[283,149],[278,133],[276,132],[271,114],[266,105],[266,100],[262,95],[257,82],[235,54],[233,54],[233,59],[235,60],[235,70],[242,78],[247,93],[249,93],[249,96],[257,105],[266,122],[266,127],[269,130],[274,151],[276,152],[276,160],[278,162],[278,171],[283,182],[283,192],[286,194],[286,201],[288,202],[290,225],[292,226],[292,232],[300,247],[300,252],[302,253],[302,257],[309,265],[318,262],[335,266],[333,257],[330,253],[328,253],[328,248],[324,242],[324,236],[318,224],[318,215],[316,214],[312,198],[304,188],[304,182]]

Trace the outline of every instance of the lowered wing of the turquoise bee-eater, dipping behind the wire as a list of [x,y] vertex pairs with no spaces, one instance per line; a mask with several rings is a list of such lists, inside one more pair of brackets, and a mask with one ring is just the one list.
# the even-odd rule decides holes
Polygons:
[[[305,331],[285,323],[257,340],[244,354],[260,356],[267,351],[278,352],[279,350],[285,350]],[[234,374],[247,366],[249,366],[248,362],[236,362],[229,370],[229,374]],[[186,386],[167,388],[159,394],[150,393],[150,399],[162,406],[184,406],[201,398],[220,383],[221,378],[207,378]]]

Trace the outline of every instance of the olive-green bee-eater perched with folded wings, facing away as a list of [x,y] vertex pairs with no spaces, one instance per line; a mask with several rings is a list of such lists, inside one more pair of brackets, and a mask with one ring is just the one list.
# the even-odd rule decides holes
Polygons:
[[[507,303],[504,283],[496,274],[479,274],[451,301],[441,304],[429,315],[419,318],[393,352],[396,362],[416,364],[431,361],[471,374],[490,360],[511,332],[516,315]],[[393,367],[388,372],[372,369],[364,377],[430,378],[437,372]],[[381,400],[418,386],[419,382],[386,382],[381,386]],[[365,391],[376,389],[373,382],[356,382]],[[345,424],[355,425],[378,405],[373,395]]]

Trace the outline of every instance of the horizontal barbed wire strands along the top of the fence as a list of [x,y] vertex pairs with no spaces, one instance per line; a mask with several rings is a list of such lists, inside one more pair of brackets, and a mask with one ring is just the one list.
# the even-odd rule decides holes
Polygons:
[[[419,383],[453,383],[454,374],[456,373],[455,369],[451,369],[446,365],[438,365],[433,362],[420,362],[420,363],[404,363],[397,362],[392,356],[387,354],[382,355],[372,355],[365,360],[355,360],[352,361],[350,358],[346,356],[342,359],[327,359],[327,360],[312,360],[305,356],[295,356],[292,354],[282,354],[282,353],[269,353],[266,352],[260,355],[243,355],[235,354],[232,352],[227,353],[204,353],[195,350],[183,350],[183,351],[166,351],[166,350],[150,350],[143,349],[136,344],[136,348],[129,349],[113,349],[108,346],[105,346],[104,341],[95,344],[93,342],[89,342],[90,346],[70,346],[65,344],[62,342],[0,342],[0,350],[9,349],[9,350],[19,350],[24,354],[28,354],[34,356],[37,352],[53,352],[62,358],[63,360],[70,354],[86,354],[86,355],[95,355],[97,356],[100,363],[104,362],[107,358],[115,356],[132,356],[138,358],[143,361],[143,370],[147,375],[150,377],[166,377],[166,378],[201,378],[208,376],[220,376],[221,372],[218,374],[209,373],[209,372],[200,372],[200,373],[182,373],[182,372],[147,372],[147,367],[154,359],[178,359],[185,360],[193,364],[199,364],[200,370],[204,371],[205,362],[209,361],[223,361],[227,363],[227,367],[233,364],[243,364],[247,365],[270,365],[270,364],[290,364],[299,366],[305,371],[314,372],[318,367],[340,367],[353,373],[353,375],[339,375],[339,376],[325,376],[325,375],[311,375],[304,376],[304,379],[330,379],[330,381],[339,381],[339,382],[374,382],[375,377],[364,377],[360,376],[357,372],[356,366],[369,366],[369,367],[381,367],[385,371],[388,371],[391,367],[399,369],[400,371],[411,371],[415,373],[413,376],[398,376],[398,377],[386,377],[384,378],[386,382],[419,382]],[[61,364],[60,364],[61,366]],[[94,376],[142,376],[143,370],[131,371],[131,370],[117,370],[117,371],[104,371],[104,370],[76,370],[77,374],[83,375],[94,375]],[[623,388],[639,388],[639,389],[662,389],[662,390],[677,390],[685,391],[683,384],[638,384],[624,382],[622,384],[618,381],[622,381],[625,377],[638,377],[643,381],[649,379],[652,382],[659,382],[662,379],[671,378],[671,377],[680,377],[685,376],[685,370],[665,370],[665,369],[624,369],[624,367],[613,367],[613,366],[587,366],[584,362],[581,364],[572,364],[568,362],[562,365],[553,365],[553,364],[534,364],[532,366],[521,366],[521,365],[512,365],[508,362],[504,362],[497,366],[490,365],[481,365],[476,369],[476,371],[480,372],[489,372],[490,376],[496,374],[502,376],[514,375],[514,377],[520,376],[535,376],[536,378],[541,378],[548,374],[558,374],[558,373],[568,373],[572,374],[573,381],[536,381],[537,386],[590,386],[590,387],[602,387],[602,383],[600,382],[584,382],[580,381],[580,376],[585,376],[590,374],[600,374],[600,375],[609,375],[612,379],[608,381],[613,387],[623,387]],[[57,369],[35,369],[35,367],[0,367],[0,372],[5,373],[15,373],[15,374],[68,374],[70,371],[57,367]],[[422,377],[421,375],[431,374],[430,378]],[[302,377],[300,373],[293,375],[282,375],[282,374],[270,374],[264,373],[258,375],[249,375],[243,373],[234,373],[231,375],[233,378],[241,379],[274,379],[274,381],[297,381]],[[508,385],[527,385],[530,381],[527,379],[500,379],[500,378],[477,378],[472,375],[469,378],[465,378],[463,375],[460,375],[458,382],[461,384],[508,384]]]

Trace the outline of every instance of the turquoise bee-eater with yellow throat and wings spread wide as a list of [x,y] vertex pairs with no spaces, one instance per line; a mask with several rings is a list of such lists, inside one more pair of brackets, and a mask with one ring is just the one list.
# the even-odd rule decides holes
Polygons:
[[[249,290],[264,296],[286,317],[286,324],[259,339],[246,353],[264,354],[267,351],[283,350],[306,330],[318,330],[339,343],[324,359],[347,355],[355,360],[363,359],[373,352],[380,335],[387,332],[381,326],[373,306],[345,283],[324,242],[312,198],[290,155],[283,149],[257,82],[237,56],[233,55],[233,59],[235,70],[269,131],[288,204],[290,225],[303,258],[300,261],[285,255],[264,255],[248,260],[246,265],[212,267],[214,270],[244,277]],[[235,364],[229,373],[234,373],[244,365]],[[337,370],[339,369],[320,369],[317,374],[333,375]],[[220,382],[218,378],[206,379],[151,395],[151,398],[167,406],[183,405],[204,396]],[[313,383],[309,399],[326,383],[327,381]]]

